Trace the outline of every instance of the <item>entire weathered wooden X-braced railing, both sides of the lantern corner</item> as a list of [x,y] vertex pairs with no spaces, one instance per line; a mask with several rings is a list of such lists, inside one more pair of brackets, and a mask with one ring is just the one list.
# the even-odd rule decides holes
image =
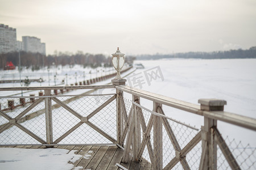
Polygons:
[[[99,89],[113,89],[115,91],[114,94],[91,95],[93,91]],[[152,164],[152,169],[172,169],[177,165],[177,163],[180,163],[183,169],[191,169],[191,164],[189,163],[187,155],[193,150],[193,148],[195,148],[195,146],[200,145],[200,142],[200,163],[196,167],[196,169],[217,169],[217,146],[222,151],[224,158],[229,164],[229,167],[231,167],[232,169],[241,169],[241,163],[237,162],[233,152],[230,151],[228,144],[221,136],[217,128],[217,121],[228,122],[229,124],[241,126],[243,128],[256,131],[256,120],[254,118],[225,112],[224,105],[226,104],[226,101],[224,100],[200,99],[200,105],[197,105],[187,103],[181,100],[172,99],[167,96],[153,94],[151,92],[139,90],[137,88],[125,85],[0,88],[0,91],[21,90],[43,90],[44,96],[32,96],[32,98],[37,98],[37,100],[34,100],[28,105],[20,106],[20,108],[23,109],[22,111],[20,111],[19,108],[14,108],[11,112],[0,111],[0,116],[2,117],[1,120],[5,120],[2,122],[0,121],[0,135],[6,131],[7,133],[12,133],[12,131],[10,130],[11,127],[16,126],[18,127],[18,129],[24,131],[30,137],[38,141],[41,145],[46,145],[49,147],[53,145],[60,145],[60,143],[63,142],[64,139],[72,135],[74,131],[81,128],[82,125],[86,125],[86,127],[88,126],[90,129],[93,129],[95,133],[100,134],[101,138],[105,138],[106,140],[108,140],[108,144],[112,143],[124,149],[122,162],[127,162],[130,154],[133,155],[133,159],[135,162],[139,162],[143,159],[143,155],[145,155],[146,153],[146,155],[148,156],[148,162]],[[52,95],[54,90],[88,91],[82,92],[82,94],[79,95],[58,96]],[[131,94],[131,100],[127,100],[124,97],[126,96],[125,94]],[[84,96],[94,97],[104,95],[108,95],[109,97],[106,98],[105,101],[99,104],[96,108],[94,108],[92,112],[87,111],[86,108],[80,109],[83,105],[86,105],[88,103],[87,98],[85,100],[80,100],[81,103],[79,105],[73,104],[75,105],[74,107],[71,107],[71,105],[69,105],[69,103],[79,100],[81,97]],[[68,99],[64,100],[61,97],[68,97]],[[2,96],[1,98],[5,99],[8,97]],[[13,96],[13,98],[15,98],[15,96]],[[22,96],[16,98],[22,98]],[[27,96],[27,98],[31,98],[31,96]],[[141,105],[142,99],[152,101],[153,109],[150,110],[143,107]],[[114,107],[110,107],[110,105],[113,103]],[[39,108],[31,113],[31,110],[39,104],[42,104],[43,108]],[[163,105],[166,107],[172,107],[185,112],[203,116],[204,125],[202,126],[201,130],[199,130],[191,127],[190,125],[173,120],[172,118],[167,117],[164,114]],[[106,121],[104,121],[104,118],[102,118],[102,116],[106,117],[104,115],[106,113],[106,111],[104,111],[104,108],[106,107],[109,107],[108,116],[112,117],[105,118]],[[67,130],[55,137],[55,131],[53,129],[53,112],[55,112],[59,108],[65,109],[65,111],[67,111],[69,114],[77,119],[77,122],[72,124],[70,123],[71,126],[67,128]],[[14,116],[11,116],[10,113],[16,114],[14,114]],[[45,118],[45,135],[36,134],[34,131],[30,130],[29,128],[27,128],[27,126],[25,126],[26,121],[32,120],[33,118],[39,117],[40,115],[44,115]],[[60,115],[63,115],[63,113],[60,113]],[[93,118],[96,116],[98,116],[98,119],[92,121]],[[71,118],[69,120],[71,120]],[[43,120],[40,120],[38,122],[41,121]],[[193,131],[196,131],[195,135],[193,135],[193,137],[189,139],[187,143],[181,143],[179,138],[176,137],[174,127],[172,124],[170,124],[170,122],[175,122],[188,129],[193,129]],[[67,124],[68,123],[69,122],[67,122]],[[102,125],[104,125],[103,128]],[[63,127],[60,126],[60,129],[61,128]],[[79,134],[83,136],[88,135],[86,134],[86,132],[87,130],[81,130],[79,131]],[[93,136],[93,134],[90,135]],[[6,136],[7,135],[5,135],[5,137]],[[3,140],[5,139],[2,139],[2,141],[0,141],[0,145],[8,144],[8,142],[3,142]],[[6,140],[8,141],[8,139]],[[164,154],[164,152],[166,151],[166,146],[163,145],[164,140],[167,140],[167,146],[173,148],[172,155]],[[64,141],[64,144],[77,145],[77,143],[72,142],[65,143]],[[98,142],[96,141],[96,143]],[[22,143],[15,143],[15,145],[17,144]],[[33,143],[28,142],[26,144],[32,145]],[[88,143],[79,144],[86,145]],[[105,145],[106,143],[98,144]],[[168,159],[164,159],[164,156],[167,156]],[[191,159],[190,161],[194,160]],[[254,162],[251,162],[251,164],[254,164]]]

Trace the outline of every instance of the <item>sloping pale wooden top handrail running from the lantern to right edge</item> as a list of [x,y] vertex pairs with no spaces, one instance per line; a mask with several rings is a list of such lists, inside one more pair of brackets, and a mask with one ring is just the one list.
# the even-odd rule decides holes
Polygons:
[[159,103],[159,104],[168,105],[170,107],[181,109],[183,111],[195,113],[200,116],[205,116],[208,118],[213,118],[215,120],[228,122],[233,125],[238,125],[243,128],[256,131],[255,118],[246,117],[240,114],[235,114],[235,113],[230,113],[225,111],[203,111],[200,109],[200,105],[188,103],[182,100],[173,99],[171,97],[155,94],[152,92],[144,91],[144,90],[126,86],[126,85],[115,86],[115,88],[117,88],[118,90],[127,92],[129,94],[142,97],[144,99],[155,101],[156,103]]

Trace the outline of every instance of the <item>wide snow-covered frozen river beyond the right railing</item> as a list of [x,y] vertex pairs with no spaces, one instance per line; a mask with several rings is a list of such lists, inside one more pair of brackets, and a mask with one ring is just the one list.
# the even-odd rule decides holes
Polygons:
[[[136,61],[144,69],[138,69],[139,82],[130,77],[131,86],[190,103],[199,99],[216,98],[227,101],[224,111],[256,118],[256,59],[159,59]],[[146,73],[151,69],[162,73],[148,81]],[[148,83],[150,82],[150,83]],[[152,109],[152,104],[142,101],[142,105]],[[177,120],[201,128],[203,117],[164,108],[165,113]],[[237,141],[249,142],[256,146],[256,133],[252,130],[218,121],[218,128],[224,135]]]

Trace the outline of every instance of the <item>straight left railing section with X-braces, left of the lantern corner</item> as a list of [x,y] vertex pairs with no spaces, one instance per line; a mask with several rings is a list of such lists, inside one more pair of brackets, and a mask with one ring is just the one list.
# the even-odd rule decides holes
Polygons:
[[[110,136],[108,133],[106,133],[104,130],[98,128],[96,125],[94,125],[90,120],[93,116],[95,116],[98,112],[101,111],[104,107],[109,105],[110,103],[113,103],[112,101],[115,100],[115,94],[94,94],[90,95],[93,91],[99,90],[99,89],[108,89],[108,88],[114,88],[113,85],[102,85],[102,86],[51,86],[51,87],[10,87],[10,88],[0,88],[0,91],[21,91],[21,90],[40,90],[44,91],[43,96],[1,96],[1,99],[17,99],[17,98],[37,98],[34,100],[34,102],[26,103],[26,105],[16,107],[14,109],[11,109],[11,112],[4,112],[3,110],[0,111],[1,116],[1,125],[0,125],[0,134],[5,131],[9,130],[11,127],[16,126],[22,131],[24,131],[26,134],[30,135],[30,137],[34,138],[36,141],[41,143],[42,145],[46,146],[53,146],[57,145],[60,141],[62,141],[64,138],[66,138],[69,134],[71,134],[73,131],[75,131],[77,128],[79,128],[82,124],[88,125],[90,128],[94,129],[97,133],[101,134],[103,137],[108,139],[111,143],[115,143],[116,140],[114,137]],[[72,90],[87,90],[86,92],[82,92],[79,95],[52,95],[54,90],[69,90],[72,93]],[[81,97],[90,96],[96,97],[96,96],[109,96],[104,103],[99,105],[97,108],[94,109],[92,113],[89,113],[89,111],[86,111],[86,108],[84,111],[77,112],[77,109],[73,109],[69,103],[79,100]],[[63,97],[66,97],[67,99],[63,99]],[[61,99],[60,99],[61,98]],[[53,102],[55,104],[53,104]],[[76,103],[76,107],[82,107],[82,105],[85,105],[88,101],[82,101],[81,103]],[[39,104],[42,105],[40,108],[36,108]],[[53,139],[53,111],[56,111],[59,108],[65,109],[65,111],[68,112],[68,114],[71,114],[73,117],[77,118],[77,122],[75,125],[71,125],[69,129],[66,129],[64,133],[59,135],[58,137],[55,137],[55,140]],[[31,113],[32,109],[35,109],[34,112]],[[65,112],[65,114],[67,114]],[[14,114],[14,116],[11,116],[11,114]],[[56,113],[61,114],[61,113]],[[112,113],[109,114],[115,114],[115,111],[112,111]],[[33,131],[31,131],[29,128],[26,128],[25,125],[28,120],[32,120],[33,118],[39,117],[41,115],[45,116],[45,120],[40,119],[40,121],[45,121],[45,136],[39,137],[40,134],[36,134]],[[85,116],[86,115],[86,116]],[[59,116],[59,115],[58,115]],[[66,116],[66,115],[65,115]],[[67,115],[68,116],[68,115]],[[71,119],[71,118],[69,118]],[[73,118],[72,118],[73,119]],[[100,118],[99,118],[100,119]],[[56,120],[58,121],[58,120]],[[71,121],[71,120],[67,120]],[[27,125],[28,126],[28,125]],[[59,127],[61,128],[61,127]],[[9,131],[11,132],[11,131]],[[45,138],[45,139],[44,139]],[[2,138],[4,139],[4,138]],[[6,139],[6,143],[8,144],[8,139]],[[6,145],[6,143],[0,143],[0,145]],[[14,144],[14,143],[12,143]],[[22,144],[16,143],[16,144]],[[26,144],[26,143],[25,143]],[[32,143],[27,143],[32,144]],[[34,143],[35,144],[35,143]],[[67,143],[72,144],[72,143]],[[82,143],[81,143],[82,144]],[[86,143],[83,143],[86,144]]]

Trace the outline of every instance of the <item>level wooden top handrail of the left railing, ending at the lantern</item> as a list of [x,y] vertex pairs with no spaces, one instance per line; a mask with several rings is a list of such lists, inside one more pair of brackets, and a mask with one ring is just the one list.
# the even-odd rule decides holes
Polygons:
[[115,88],[112,84],[85,85],[85,86],[34,86],[34,87],[0,87],[0,91],[20,91],[20,90],[79,90],[79,89],[100,89]]

